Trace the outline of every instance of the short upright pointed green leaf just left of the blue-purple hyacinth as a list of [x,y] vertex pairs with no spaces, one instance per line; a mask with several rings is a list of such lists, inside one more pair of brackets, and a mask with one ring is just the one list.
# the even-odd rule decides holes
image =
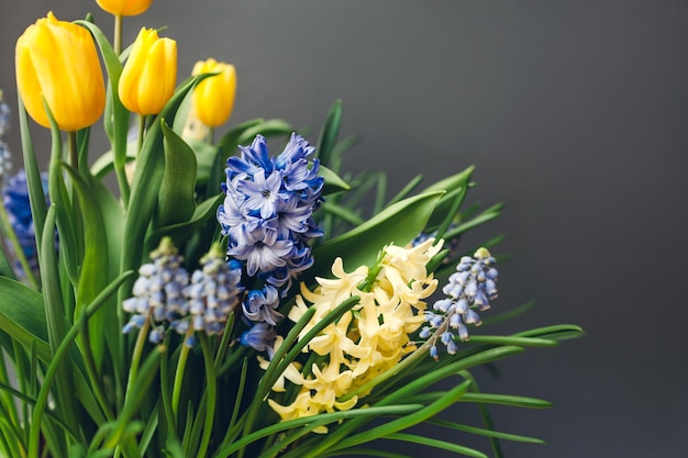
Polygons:
[[160,120],[165,150],[165,172],[158,193],[159,226],[182,223],[196,209],[196,154],[186,142]]

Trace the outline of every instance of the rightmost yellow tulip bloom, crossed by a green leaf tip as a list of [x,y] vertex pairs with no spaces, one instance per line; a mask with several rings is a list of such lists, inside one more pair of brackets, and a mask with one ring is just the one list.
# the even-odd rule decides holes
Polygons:
[[233,65],[215,59],[201,60],[193,66],[193,75],[218,74],[206,78],[193,89],[193,107],[198,119],[217,127],[230,119],[236,93],[236,70]]

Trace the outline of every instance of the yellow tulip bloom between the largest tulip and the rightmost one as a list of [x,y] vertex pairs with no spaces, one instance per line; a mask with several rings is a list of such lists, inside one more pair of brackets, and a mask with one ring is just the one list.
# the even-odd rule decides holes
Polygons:
[[177,42],[143,27],[120,77],[120,100],[129,111],[157,114],[175,93]]

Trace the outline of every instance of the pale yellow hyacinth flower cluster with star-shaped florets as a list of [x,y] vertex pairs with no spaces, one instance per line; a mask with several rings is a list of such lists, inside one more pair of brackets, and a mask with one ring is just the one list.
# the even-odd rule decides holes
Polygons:
[[[313,291],[301,283],[301,294],[296,297],[289,319],[297,322],[309,308],[315,309],[315,313],[299,338],[344,300],[352,295],[360,299],[352,311],[323,328],[303,348],[303,351],[326,357],[328,362],[312,365],[310,373],[300,379],[295,377],[295,368],[285,376],[301,386],[296,400],[289,405],[268,400],[282,421],[353,409],[359,398],[369,393],[366,383],[391,370],[404,355],[415,349],[410,335],[424,322],[426,304],[423,300],[437,287],[437,280],[425,269],[442,248],[441,242],[433,243],[430,238],[409,248],[385,247],[379,272],[369,290],[358,289],[369,269],[360,266],[348,273],[341,258],[332,265],[333,279],[317,278],[319,287]],[[310,306],[306,301],[311,302]],[[267,361],[263,360],[260,367],[266,369]],[[274,391],[284,391],[285,377]],[[358,389],[358,395],[343,398]],[[328,428],[321,426],[314,432],[322,434]]]

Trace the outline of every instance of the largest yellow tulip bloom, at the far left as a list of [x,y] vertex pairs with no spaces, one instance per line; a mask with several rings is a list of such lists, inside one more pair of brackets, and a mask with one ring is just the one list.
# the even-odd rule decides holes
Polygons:
[[106,108],[106,86],[91,34],[49,12],[16,41],[16,86],[26,111],[49,127],[43,100],[59,129],[93,124]]

